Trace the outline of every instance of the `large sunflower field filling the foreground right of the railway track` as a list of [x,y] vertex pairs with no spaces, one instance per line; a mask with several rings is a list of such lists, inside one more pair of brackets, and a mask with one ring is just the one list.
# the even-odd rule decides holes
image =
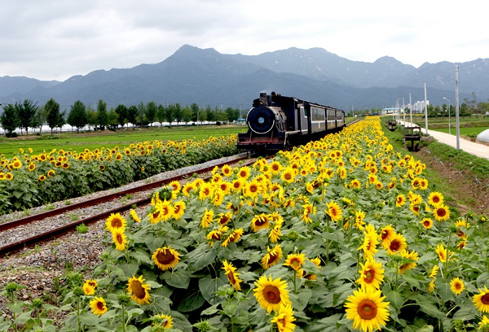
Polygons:
[[457,216],[378,117],[106,220],[61,331],[489,331],[486,216]]

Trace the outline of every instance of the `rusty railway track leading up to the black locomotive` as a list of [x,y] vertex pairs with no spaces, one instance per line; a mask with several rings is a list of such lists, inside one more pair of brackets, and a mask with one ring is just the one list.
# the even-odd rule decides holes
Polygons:
[[[103,195],[101,197],[96,197],[93,199],[86,199],[82,202],[78,202],[75,204],[61,206],[58,209],[52,209],[50,211],[44,211],[42,213],[37,213],[32,216],[12,220],[10,222],[4,222],[0,224],[0,257],[4,257],[6,255],[9,255],[10,253],[28,248],[35,245],[36,243],[56,239],[63,234],[73,232],[73,230],[75,230],[81,224],[89,225],[98,220],[108,218],[111,213],[123,213],[125,211],[129,211],[129,209],[131,209],[133,206],[145,206],[151,202],[150,194],[154,191],[155,188],[164,186],[171,181],[184,181],[187,178],[193,179],[195,173],[203,175],[207,172],[212,171],[212,169],[214,169],[214,167],[216,166],[222,167],[226,164],[233,165],[246,159],[249,159],[248,155],[239,156],[238,158],[235,158],[233,160],[226,160],[225,162],[214,163],[212,164],[212,166],[192,169],[191,172],[184,172],[182,174],[170,176],[166,179],[161,179],[159,181],[145,183],[143,185],[133,188],[119,190],[116,193],[110,193],[108,195]],[[250,158],[243,165],[251,165],[251,163],[254,163],[254,158]],[[204,176],[204,179],[207,178],[210,178],[210,176]],[[131,199],[125,199],[126,197],[131,197]],[[122,200],[127,200],[130,202],[123,204],[124,202],[120,202]],[[78,219],[77,216],[85,216],[85,208],[90,208],[93,211],[94,206],[101,206],[100,213],[94,214],[92,212],[92,216]],[[75,213],[74,211],[78,211],[78,213]],[[57,225],[57,227],[52,227],[51,229],[38,232],[37,234],[29,234],[29,236],[25,236],[22,239],[9,241],[9,239],[15,238],[13,234],[17,232],[35,232],[35,230],[32,230],[36,229],[36,227],[33,227],[33,225],[38,222],[43,222],[43,220],[45,220],[46,218],[55,218],[57,216],[60,220],[64,220],[63,225]],[[66,222],[67,219],[74,220]]]

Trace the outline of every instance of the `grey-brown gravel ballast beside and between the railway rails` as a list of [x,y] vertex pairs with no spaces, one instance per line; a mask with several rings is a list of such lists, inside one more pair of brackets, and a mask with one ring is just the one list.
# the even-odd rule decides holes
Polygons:
[[[231,156],[226,158],[221,158],[219,160],[212,160],[207,163],[200,165],[194,165],[189,167],[184,167],[182,169],[177,169],[175,171],[165,172],[161,174],[156,174],[149,178],[149,181],[157,181],[163,179],[169,179],[170,177],[184,174],[187,172],[194,172],[202,167],[212,167],[217,163],[230,162],[244,156],[243,154],[238,156]],[[139,186],[143,183],[147,183],[148,179],[129,183],[121,188],[116,188],[112,190],[106,190],[104,192],[93,193],[85,197],[80,197],[76,199],[70,199],[71,203],[78,202],[80,200],[90,199],[94,197],[99,197],[101,195],[106,195],[108,193],[115,193],[121,189],[133,188]],[[154,190],[149,190],[154,191]],[[141,195],[149,195],[149,193],[143,193]],[[133,195],[136,199],[139,195]],[[131,200],[123,198],[118,199],[121,205],[128,204]],[[51,209],[52,206],[57,208],[59,206],[64,206],[66,202],[57,202],[50,204],[49,206],[39,206],[37,208],[31,209],[29,211],[21,211],[16,213],[11,213],[10,215],[0,216],[1,222],[7,222],[10,220],[15,220],[22,218],[29,214],[40,213],[46,211],[46,209]],[[109,202],[110,207],[114,207],[115,202]],[[52,206],[51,206],[52,205]],[[65,213],[62,216],[56,216],[53,218],[45,218],[40,222],[35,222],[31,225],[26,225],[22,227],[23,233],[34,233],[37,232],[36,229],[41,229],[44,227],[52,227],[52,225],[59,225],[59,222],[72,222],[75,216],[83,216],[80,218],[85,218],[86,216],[92,216],[101,213],[101,206],[92,206],[80,211],[72,211]],[[136,209],[138,216],[144,216],[146,206],[140,206]],[[73,213],[70,215],[70,213]],[[78,218],[77,217],[77,218]],[[66,220],[68,219],[68,220]],[[19,231],[19,234],[21,232]],[[6,233],[2,232],[0,234],[0,245],[2,242],[10,243],[15,241],[19,234],[14,232]],[[8,238],[8,240],[6,239]],[[45,301],[51,302],[57,305],[57,293],[55,292],[55,287],[60,278],[68,271],[80,271],[85,274],[85,278],[89,278],[92,275],[92,271],[95,266],[98,265],[100,259],[99,255],[105,249],[104,243],[110,243],[111,240],[108,239],[108,234],[105,232],[105,220],[99,220],[89,225],[89,230],[85,234],[80,234],[78,232],[73,232],[71,234],[66,234],[61,236],[59,239],[54,241],[49,241],[46,243],[41,243],[35,248],[26,248],[21,252],[17,252],[14,255],[0,258],[0,290],[4,289],[8,282],[17,282],[25,285],[25,289],[21,289],[20,299],[24,301],[31,301],[38,297],[42,297]],[[0,312],[3,314],[6,312],[6,317],[8,316],[8,310],[6,310],[6,299],[0,296]]]

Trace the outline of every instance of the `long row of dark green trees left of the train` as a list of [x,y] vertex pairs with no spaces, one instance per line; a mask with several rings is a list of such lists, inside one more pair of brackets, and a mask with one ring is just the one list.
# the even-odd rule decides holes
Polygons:
[[98,100],[96,110],[91,105],[85,106],[82,101],[77,100],[71,105],[70,112],[66,116],[66,110],[61,112],[59,103],[54,99],[48,100],[44,106],[39,107],[37,103],[26,99],[15,104],[3,105],[3,114],[0,115],[0,126],[6,133],[13,133],[16,128],[20,128],[21,133],[25,129],[29,134],[29,128],[39,128],[41,130],[44,124],[51,129],[61,128],[65,123],[77,128],[88,127],[98,130],[105,128],[115,129],[118,126],[152,126],[152,123],[176,122],[233,122],[240,117],[240,110],[232,107],[221,110],[217,106],[212,108],[209,105],[200,108],[196,103],[182,107],[179,103],[168,105],[157,105],[154,101],[149,103],[141,102],[139,105],[119,104],[115,108],[107,110],[107,103]]

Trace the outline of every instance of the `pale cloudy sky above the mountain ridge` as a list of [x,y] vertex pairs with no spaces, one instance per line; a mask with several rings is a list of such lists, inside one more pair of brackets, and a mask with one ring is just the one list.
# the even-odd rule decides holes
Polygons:
[[64,81],[158,63],[182,45],[255,55],[321,47],[353,61],[489,58],[479,0],[3,0],[0,76]]

